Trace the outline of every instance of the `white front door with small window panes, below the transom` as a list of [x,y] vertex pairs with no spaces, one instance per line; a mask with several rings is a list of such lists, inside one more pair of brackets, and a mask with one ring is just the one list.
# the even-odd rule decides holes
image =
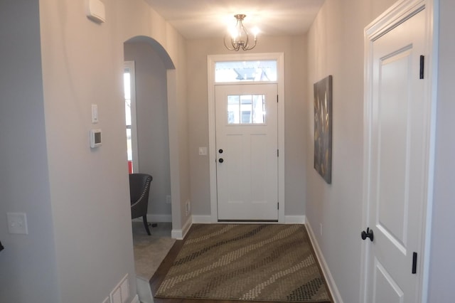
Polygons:
[[278,220],[277,85],[216,85],[218,220]]

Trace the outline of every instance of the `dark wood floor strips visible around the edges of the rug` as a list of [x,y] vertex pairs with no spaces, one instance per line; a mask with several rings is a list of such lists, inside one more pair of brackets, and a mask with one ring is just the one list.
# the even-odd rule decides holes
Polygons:
[[[188,232],[188,234],[189,233],[191,233],[191,230]],[[174,243],[174,245],[171,248],[171,250],[169,250],[168,255],[166,255],[166,257],[164,258],[163,262],[161,262],[161,265],[158,267],[158,270],[156,270],[154,276],[151,277],[150,288],[151,288],[151,293],[152,294],[156,294],[156,292],[158,291],[159,286],[161,285],[161,282],[163,282],[164,277],[166,277],[166,274],[168,273],[168,270],[171,268],[173,261],[176,260],[178,252],[180,252],[184,241],[185,240],[177,240],[176,243]],[[313,249],[313,253],[315,253],[314,249]],[[328,295],[331,297],[330,293]],[[162,299],[162,298],[155,298],[155,297],[154,297],[154,302],[155,303],[195,303],[195,302],[204,302],[204,303],[239,303],[239,301],[230,301],[230,300]],[[255,302],[259,302],[259,301],[242,301],[242,302],[243,303],[255,303]],[[331,299],[331,302],[333,302],[333,299]],[[305,302],[305,303],[321,303],[321,302]]]

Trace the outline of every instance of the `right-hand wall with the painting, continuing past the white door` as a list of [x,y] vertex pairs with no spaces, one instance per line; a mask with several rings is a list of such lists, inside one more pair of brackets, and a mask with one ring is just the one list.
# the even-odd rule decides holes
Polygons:
[[[314,171],[312,95],[306,100],[306,216],[344,302],[359,302],[363,182],[363,29],[395,1],[327,0],[308,34],[309,82],[333,75],[333,175]],[[441,0],[436,171],[428,302],[450,302],[455,270],[451,252],[455,162],[452,113],[455,4]],[[438,21],[437,21],[438,22]],[[323,235],[319,234],[323,225]]]

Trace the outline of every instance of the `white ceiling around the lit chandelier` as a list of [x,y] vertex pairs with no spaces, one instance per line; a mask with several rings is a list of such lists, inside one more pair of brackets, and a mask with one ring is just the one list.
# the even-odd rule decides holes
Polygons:
[[260,35],[306,33],[324,0],[145,0],[185,38],[219,38],[235,14],[247,15],[246,28]]

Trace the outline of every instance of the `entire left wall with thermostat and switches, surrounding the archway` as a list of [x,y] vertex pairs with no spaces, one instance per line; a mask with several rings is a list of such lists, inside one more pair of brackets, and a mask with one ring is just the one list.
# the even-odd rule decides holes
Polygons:
[[[189,198],[178,112],[186,110],[185,43],[142,0],[104,3],[107,22],[96,24],[84,1],[1,1],[1,302],[102,302],[126,274],[129,300],[136,294],[122,70],[124,42],[138,35],[158,41],[176,67],[169,137],[181,228],[178,209]],[[97,149],[92,128],[102,129]],[[28,235],[7,233],[6,212],[27,213]]]

